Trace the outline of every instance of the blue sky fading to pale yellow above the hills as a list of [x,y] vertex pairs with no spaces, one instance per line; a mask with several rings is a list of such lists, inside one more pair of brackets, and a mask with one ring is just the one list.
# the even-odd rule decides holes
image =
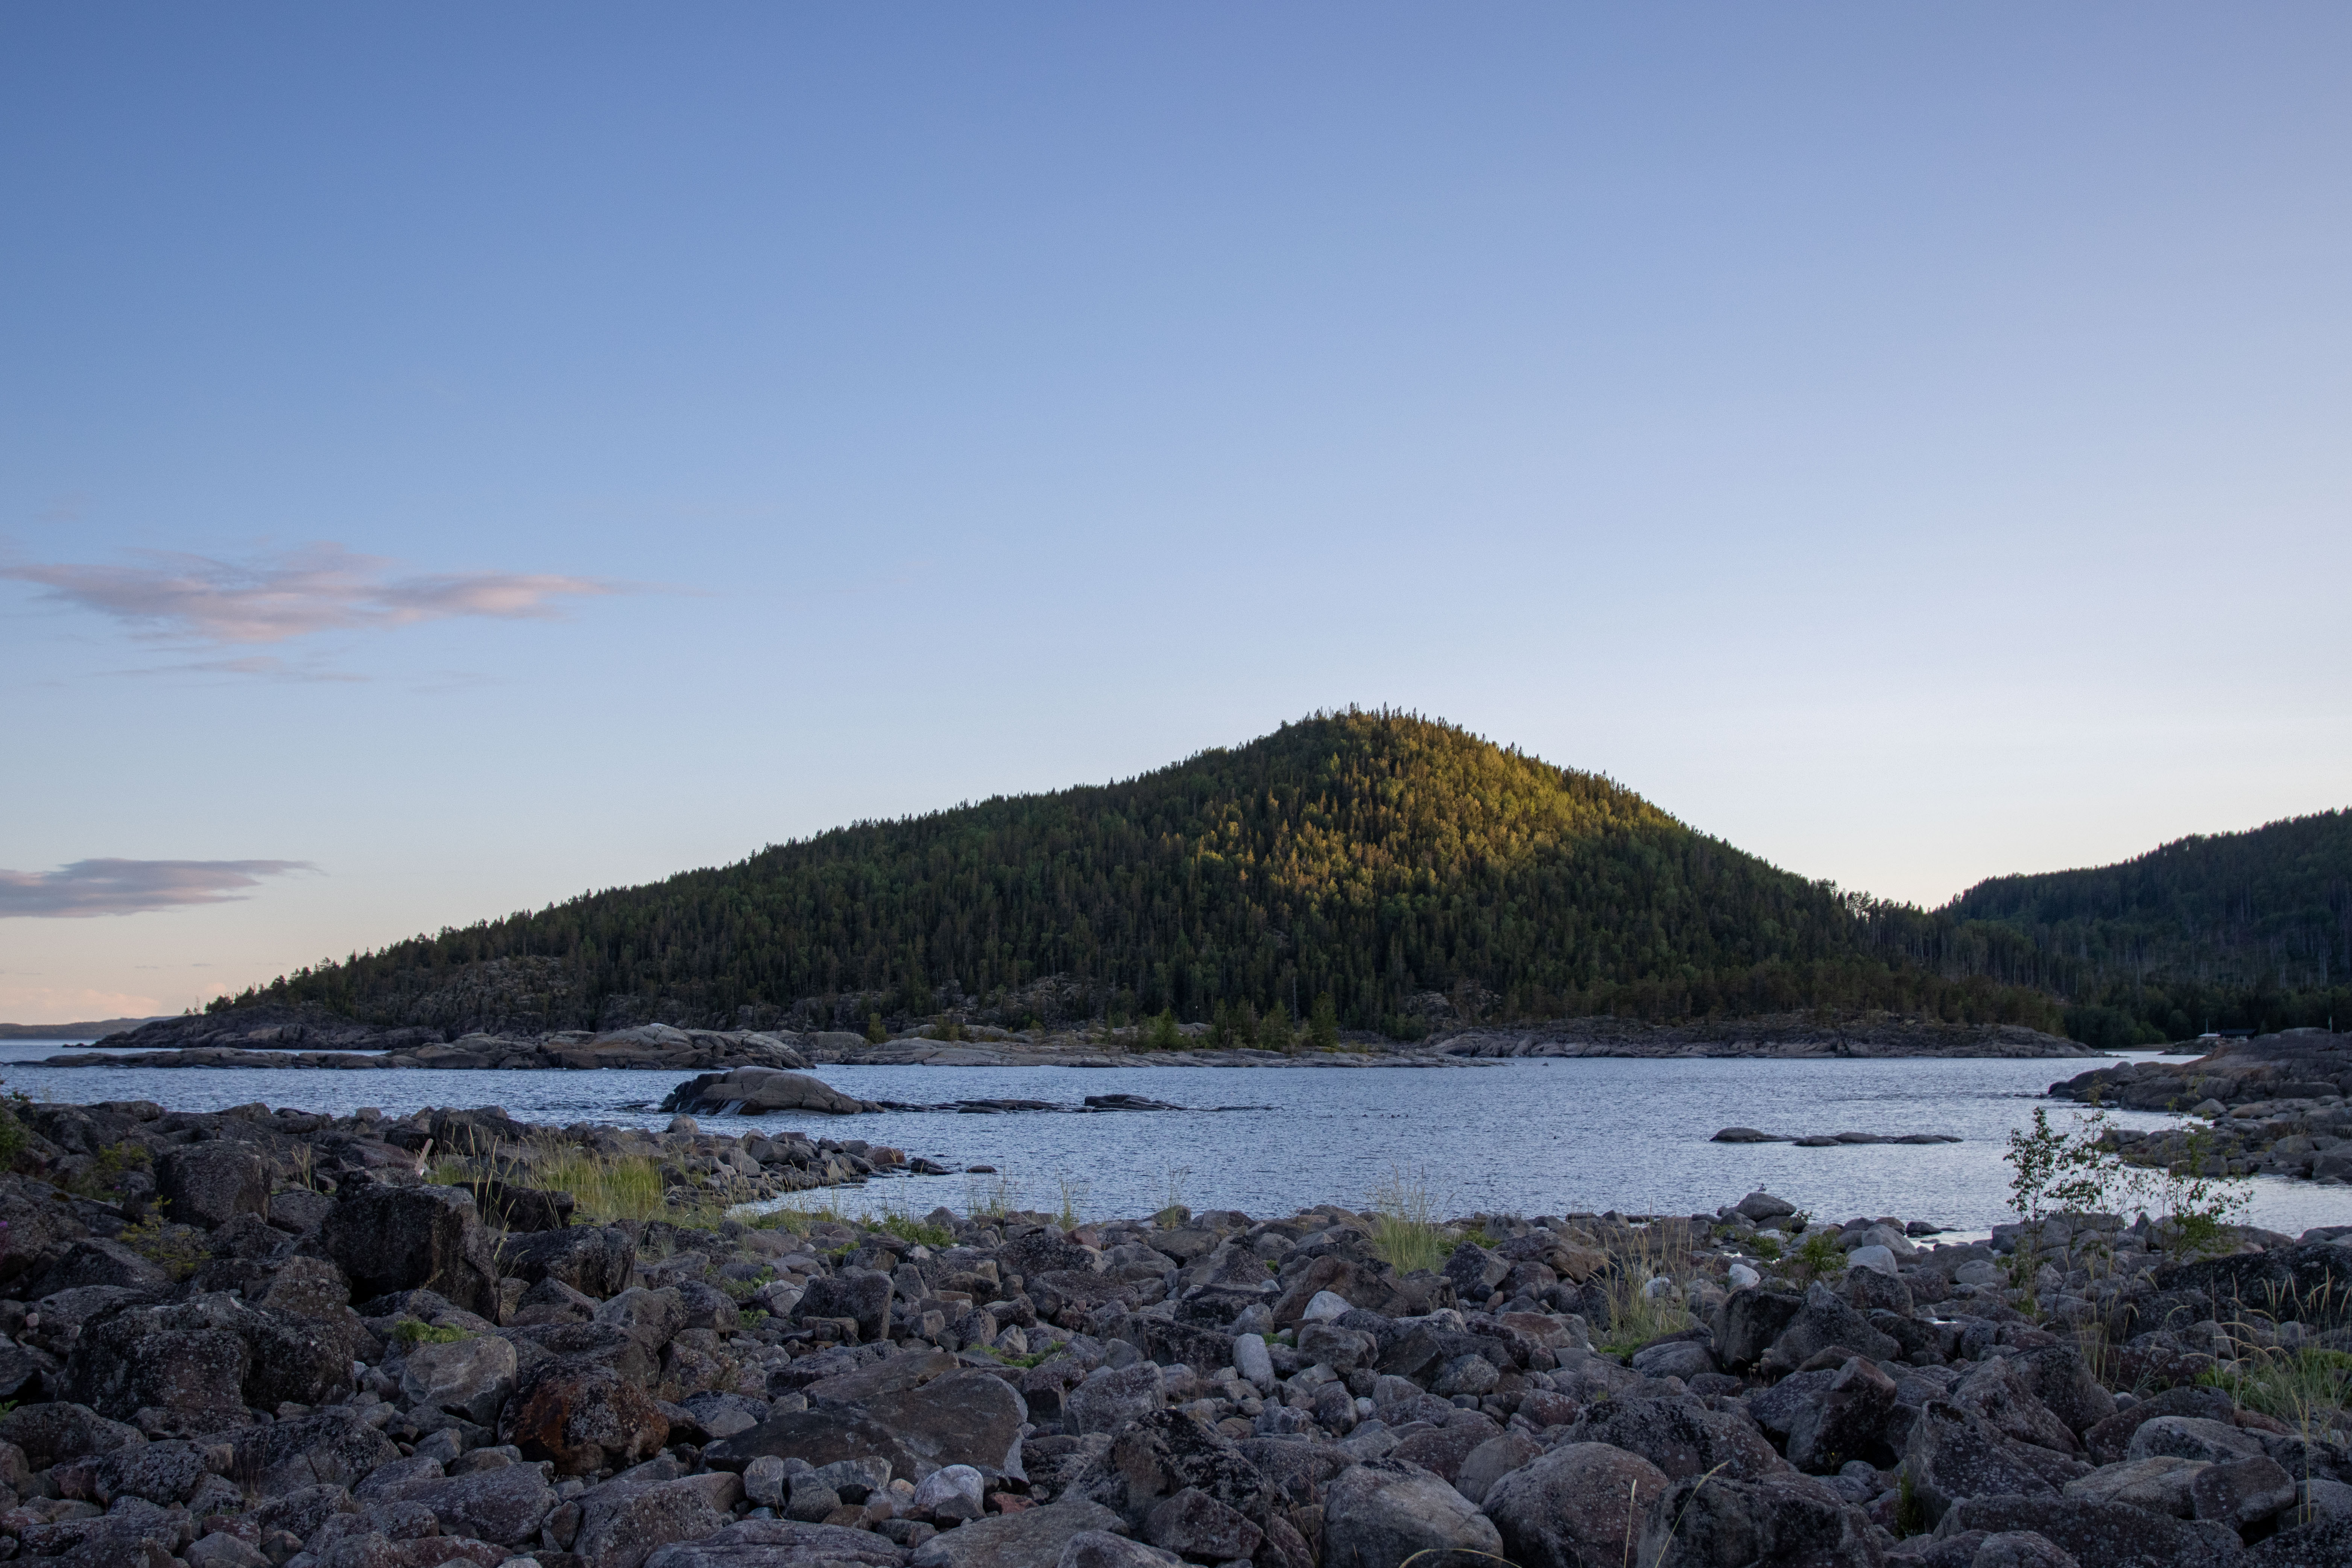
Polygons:
[[1322,705],[2347,802],[2352,14],[0,7],[0,1018]]

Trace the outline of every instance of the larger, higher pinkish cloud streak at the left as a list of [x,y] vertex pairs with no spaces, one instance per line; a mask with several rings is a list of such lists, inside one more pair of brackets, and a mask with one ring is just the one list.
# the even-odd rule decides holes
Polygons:
[[336,543],[259,562],[136,550],[151,564],[47,562],[0,567],[47,597],[127,621],[148,637],[266,644],[348,628],[397,628],[485,616],[553,621],[560,599],[628,592],[626,583],[548,571],[437,571],[393,576],[395,562]]

